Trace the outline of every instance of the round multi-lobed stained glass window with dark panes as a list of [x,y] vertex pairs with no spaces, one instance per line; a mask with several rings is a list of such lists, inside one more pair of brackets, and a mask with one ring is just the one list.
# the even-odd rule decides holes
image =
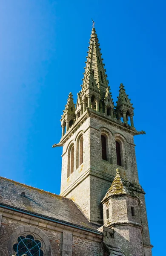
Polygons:
[[13,245],[13,249],[16,252],[16,256],[44,256],[43,250],[41,250],[41,242],[35,240],[33,236],[19,236],[17,244]]

